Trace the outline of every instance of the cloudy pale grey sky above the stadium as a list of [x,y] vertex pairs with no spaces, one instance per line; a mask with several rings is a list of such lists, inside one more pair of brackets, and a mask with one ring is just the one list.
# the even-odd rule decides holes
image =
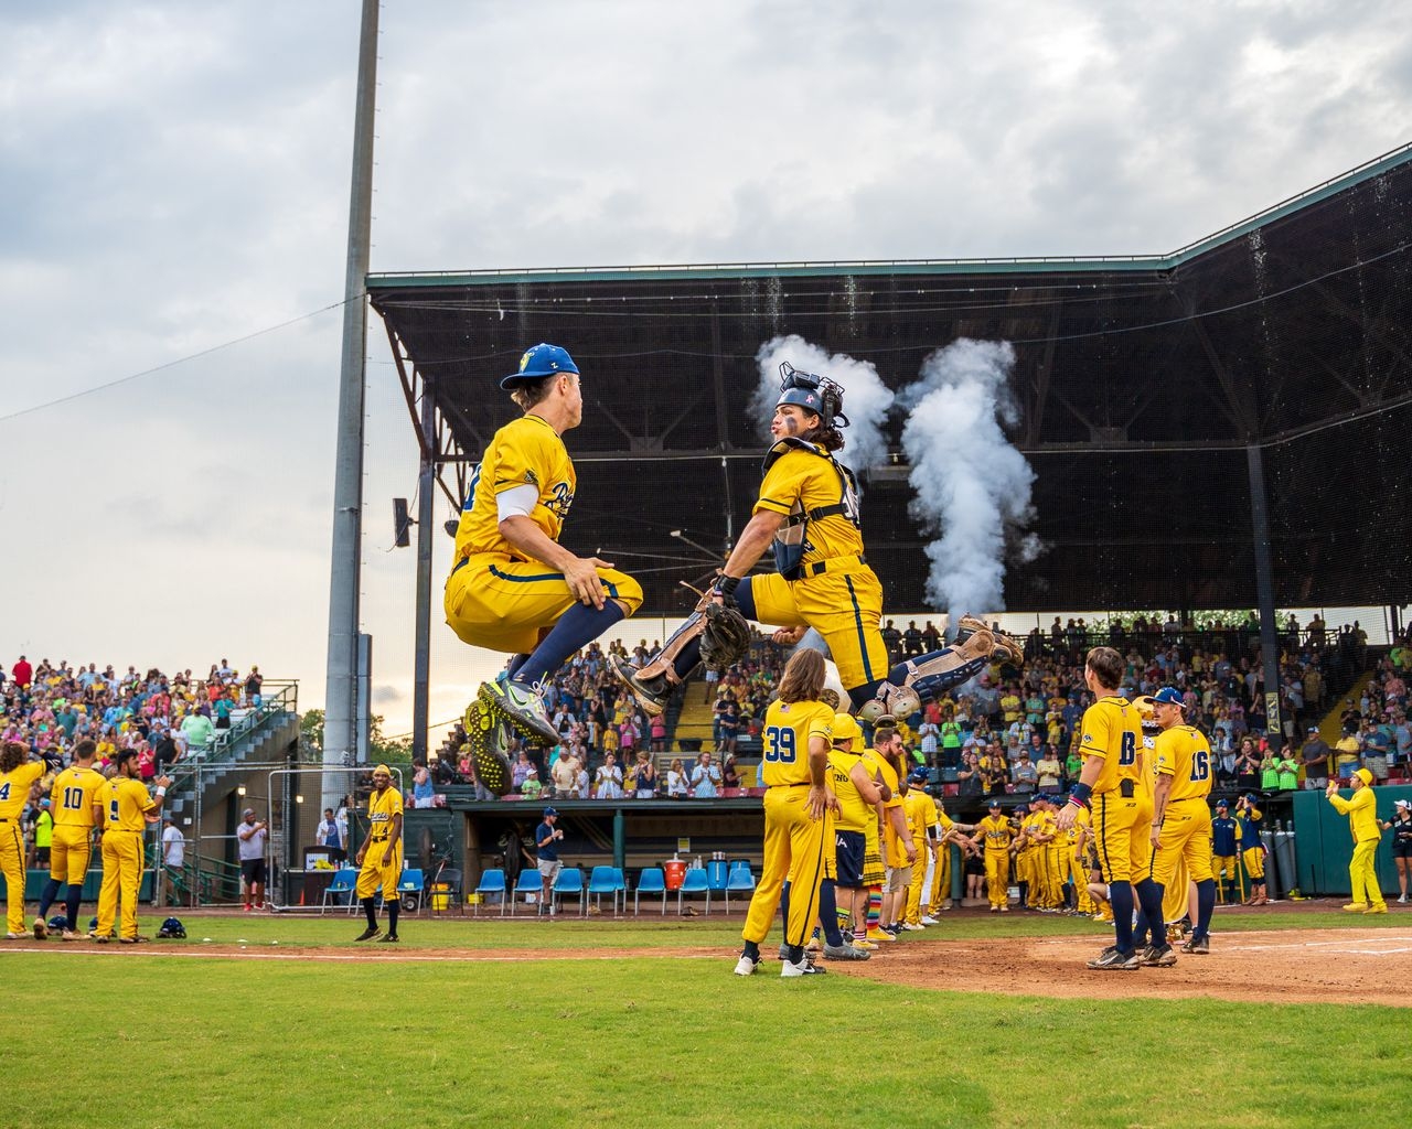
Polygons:
[[[1412,137],[1405,6],[1165,11],[388,0],[373,270],[1161,253]],[[319,706],[359,4],[0,27],[0,662],[229,658]],[[398,732],[417,453],[369,340]],[[433,641],[441,720],[489,660]]]

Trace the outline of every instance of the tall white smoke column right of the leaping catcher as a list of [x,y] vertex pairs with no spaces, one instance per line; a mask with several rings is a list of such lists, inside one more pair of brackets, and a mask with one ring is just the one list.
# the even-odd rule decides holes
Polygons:
[[1035,473],[1001,429],[1019,419],[1014,367],[1010,342],[962,337],[922,361],[921,380],[898,394],[909,409],[902,449],[916,491],[911,512],[936,535],[926,546],[926,598],[952,624],[1004,610],[1007,538],[1024,560],[1041,548],[1024,533]]

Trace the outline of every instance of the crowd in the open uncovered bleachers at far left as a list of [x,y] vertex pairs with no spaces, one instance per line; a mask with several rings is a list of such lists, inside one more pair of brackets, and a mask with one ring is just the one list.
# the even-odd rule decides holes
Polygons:
[[[261,701],[258,666],[241,675],[226,659],[205,677],[189,669],[165,675],[136,666],[117,673],[113,665],[72,666],[21,655],[0,668],[0,741],[18,741],[47,765],[41,789],[68,768],[75,742],[92,738],[96,765],[106,769],[121,749],[136,749],[143,780],[168,772],[188,756],[205,752],[217,735],[240,723]],[[27,834],[44,813],[37,799],[27,809]]]

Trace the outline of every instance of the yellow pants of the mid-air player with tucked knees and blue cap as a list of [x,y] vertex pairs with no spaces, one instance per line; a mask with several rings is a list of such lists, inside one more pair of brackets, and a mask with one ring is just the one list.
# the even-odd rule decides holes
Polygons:
[[[617,569],[599,569],[609,600],[628,615],[642,605],[642,586]],[[534,651],[539,636],[579,603],[563,573],[538,560],[477,553],[446,579],[446,624],[472,646],[518,653]]]

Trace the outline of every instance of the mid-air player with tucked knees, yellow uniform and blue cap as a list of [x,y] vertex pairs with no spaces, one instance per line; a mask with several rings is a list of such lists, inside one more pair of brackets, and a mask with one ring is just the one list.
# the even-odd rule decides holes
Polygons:
[[552,747],[559,734],[535,687],[637,611],[642,588],[609,562],[559,545],[578,487],[562,436],[583,419],[573,358],[537,344],[500,387],[524,415],[496,432],[472,474],[446,580],[446,622],[472,646],[514,656],[504,680],[484,683],[467,707],[469,739],[498,748],[508,724]]

